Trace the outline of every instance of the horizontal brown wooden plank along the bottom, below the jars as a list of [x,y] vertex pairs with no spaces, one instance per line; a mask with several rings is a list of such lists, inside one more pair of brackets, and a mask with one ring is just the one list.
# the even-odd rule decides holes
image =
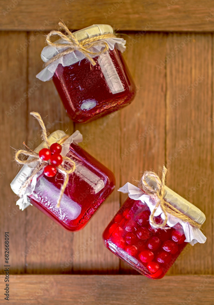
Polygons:
[[[1,304],[5,283],[1,276]],[[11,275],[9,302],[17,304],[212,305],[214,277],[141,275]]]

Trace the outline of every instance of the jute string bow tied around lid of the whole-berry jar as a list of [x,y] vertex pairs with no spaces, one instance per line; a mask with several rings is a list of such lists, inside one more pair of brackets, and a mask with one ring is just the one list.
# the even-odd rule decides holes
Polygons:
[[[143,173],[143,176],[140,181],[140,188],[147,194],[149,195],[154,201],[156,202],[155,208],[153,212],[150,214],[150,223],[152,224],[153,227],[155,228],[164,228],[165,225],[167,224],[167,213],[188,222],[191,226],[196,227],[196,228],[201,228],[201,224],[198,222],[192,220],[190,217],[187,215],[183,214],[180,212],[178,209],[176,209],[174,206],[172,206],[169,202],[165,201],[164,199],[164,185],[165,185],[165,177],[166,177],[167,169],[165,166],[163,166],[162,170],[162,177],[161,179],[158,177],[157,174],[155,174],[153,171],[146,171]],[[146,182],[146,177],[147,176],[152,176],[155,178],[156,183],[157,183],[157,189],[152,188],[150,185],[147,184]],[[161,224],[156,223],[154,213],[158,209],[158,206],[161,207],[162,212],[164,213],[165,219]]]

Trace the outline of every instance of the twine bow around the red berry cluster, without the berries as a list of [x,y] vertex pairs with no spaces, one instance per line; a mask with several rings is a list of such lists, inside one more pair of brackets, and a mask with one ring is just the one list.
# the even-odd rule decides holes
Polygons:
[[[30,113],[32,116],[34,116],[40,126],[42,127],[42,139],[45,141],[46,145],[48,148],[50,148],[50,143],[47,137],[47,132],[46,132],[46,128],[45,128],[45,124],[40,116],[40,114],[38,112],[31,112]],[[69,135],[66,135],[65,137],[61,138],[59,141],[57,141],[57,143],[62,144],[65,140],[67,140],[67,138],[69,138]],[[24,143],[23,143],[24,144]],[[25,144],[24,144],[25,145]],[[26,145],[25,145],[26,146]],[[29,158],[28,160],[21,160],[20,159],[20,155],[25,155]],[[73,173],[75,170],[75,163],[73,160],[71,160],[70,158],[66,157],[66,156],[62,156],[63,161],[66,161],[67,163],[70,163],[70,168],[67,169],[65,168],[65,163],[63,165],[58,165],[56,168],[57,170],[63,174],[64,176],[64,181],[63,181],[63,185],[60,188],[60,195],[59,198],[57,200],[57,205],[56,207],[60,207],[60,201],[62,199],[63,193],[65,191],[65,188],[68,184],[68,180],[69,180],[69,174]],[[20,188],[20,197],[24,194],[25,190],[27,189],[28,185],[30,185],[32,178],[40,171],[42,170],[43,167],[45,167],[48,164],[48,161],[42,160],[39,157],[39,154],[37,152],[34,151],[27,151],[24,149],[20,149],[15,153],[15,157],[14,157],[15,161],[19,164],[32,164],[35,161],[38,162],[38,164],[36,165],[36,167],[34,168],[34,170],[32,171],[31,175],[27,178],[27,180],[24,182],[24,184],[22,185],[22,187]]]

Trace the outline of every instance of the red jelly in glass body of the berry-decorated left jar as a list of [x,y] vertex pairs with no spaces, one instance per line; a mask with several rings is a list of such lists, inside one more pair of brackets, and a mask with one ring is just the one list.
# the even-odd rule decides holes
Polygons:
[[110,170],[78,145],[72,143],[66,156],[74,160],[76,168],[69,175],[60,208],[56,207],[63,184],[59,172],[52,178],[42,174],[29,197],[34,206],[57,224],[69,231],[78,231],[114,190],[115,178]]

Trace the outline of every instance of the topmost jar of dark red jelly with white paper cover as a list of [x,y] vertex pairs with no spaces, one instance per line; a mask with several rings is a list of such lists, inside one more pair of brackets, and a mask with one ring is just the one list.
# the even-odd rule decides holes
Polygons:
[[[50,63],[36,76],[42,81],[53,79],[65,110],[74,122],[85,123],[109,114],[130,104],[135,96],[135,85],[122,56],[125,41],[113,33],[113,28],[107,24],[92,25],[72,33],[80,43],[100,36],[96,45],[89,48],[94,53],[89,56],[95,65],[75,49]],[[105,34],[114,37],[102,38]],[[62,39],[59,41],[65,43]],[[106,44],[108,50],[96,56]],[[65,49],[48,45],[42,50],[42,60],[47,63]]]

